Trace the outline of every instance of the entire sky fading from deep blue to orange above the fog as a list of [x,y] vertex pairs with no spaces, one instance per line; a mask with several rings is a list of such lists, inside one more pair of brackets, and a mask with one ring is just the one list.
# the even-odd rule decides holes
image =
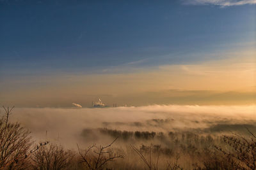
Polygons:
[[255,0],[0,0],[0,104],[255,104],[255,16]]

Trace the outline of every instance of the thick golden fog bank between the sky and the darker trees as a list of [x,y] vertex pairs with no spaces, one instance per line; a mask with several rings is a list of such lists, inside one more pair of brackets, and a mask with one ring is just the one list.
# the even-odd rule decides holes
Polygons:
[[[1,114],[3,115],[3,110]],[[19,121],[36,141],[60,142],[69,148],[76,143],[108,143],[112,139],[93,134],[95,129],[148,132],[220,132],[253,125],[256,129],[256,105],[182,106],[153,105],[118,108],[16,108],[11,121]],[[213,129],[212,129],[213,128]],[[82,133],[86,130],[86,135]],[[92,133],[88,133],[92,132]]]

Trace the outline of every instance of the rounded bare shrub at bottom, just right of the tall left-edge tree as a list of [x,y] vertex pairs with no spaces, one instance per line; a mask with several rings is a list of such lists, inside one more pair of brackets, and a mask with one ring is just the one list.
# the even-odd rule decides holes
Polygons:
[[74,153],[65,151],[61,145],[41,146],[32,154],[33,169],[61,170],[70,169]]

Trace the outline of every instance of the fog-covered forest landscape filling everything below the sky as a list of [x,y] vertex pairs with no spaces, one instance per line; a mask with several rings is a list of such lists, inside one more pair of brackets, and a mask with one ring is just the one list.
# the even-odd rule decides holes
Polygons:
[[[8,120],[6,111],[1,110],[1,136],[19,138],[10,145],[2,138],[2,169],[254,169],[256,164],[253,105],[14,108]],[[15,148],[16,142],[23,145]],[[15,152],[8,156],[5,147]]]

